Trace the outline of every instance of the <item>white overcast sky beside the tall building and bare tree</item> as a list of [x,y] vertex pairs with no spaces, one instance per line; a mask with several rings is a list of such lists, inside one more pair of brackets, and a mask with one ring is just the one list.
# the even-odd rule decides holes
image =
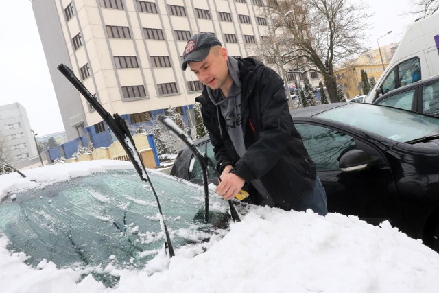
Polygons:
[[[377,38],[390,30],[392,34],[380,38],[379,44],[399,41],[407,24],[414,21],[414,16],[403,15],[410,11],[410,0],[369,0],[368,3],[375,12],[368,28],[371,48],[376,48]],[[0,36],[0,105],[22,104],[31,127],[39,135],[64,131],[31,1],[3,1]]]

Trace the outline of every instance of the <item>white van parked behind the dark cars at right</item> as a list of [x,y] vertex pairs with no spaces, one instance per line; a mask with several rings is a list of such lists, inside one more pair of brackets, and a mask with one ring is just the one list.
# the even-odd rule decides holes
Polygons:
[[400,86],[439,74],[439,14],[420,19],[407,28],[366,103]]

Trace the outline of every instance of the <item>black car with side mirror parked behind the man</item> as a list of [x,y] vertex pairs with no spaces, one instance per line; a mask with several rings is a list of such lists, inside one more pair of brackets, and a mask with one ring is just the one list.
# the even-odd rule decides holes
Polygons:
[[[324,104],[291,114],[316,162],[329,212],[371,224],[388,220],[439,251],[438,118],[362,103]],[[208,138],[195,143],[213,159]],[[182,148],[171,174],[200,183],[197,164]]]

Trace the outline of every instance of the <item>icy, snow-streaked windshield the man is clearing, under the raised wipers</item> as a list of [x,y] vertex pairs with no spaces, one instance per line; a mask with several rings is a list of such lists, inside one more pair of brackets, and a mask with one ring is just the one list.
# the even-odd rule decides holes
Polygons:
[[[228,228],[228,205],[218,196],[209,198],[210,223],[205,224],[201,187],[163,174],[150,178],[174,249],[202,243]],[[60,268],[105,268],[109,263],[141,268],[165,243],[150,185],[134,169],[9,194],[0,204],[1,233],[9,239],[9,250],[29,256],[27,263],[37,266],[46,259]]]

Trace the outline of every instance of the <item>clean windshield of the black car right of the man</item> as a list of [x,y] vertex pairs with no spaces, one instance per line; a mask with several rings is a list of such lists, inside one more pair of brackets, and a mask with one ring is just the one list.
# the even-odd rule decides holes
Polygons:
[[439,119],[436,117],[372,104],[350,103],[316,116],[355,126],[399,142],[439,134]]

